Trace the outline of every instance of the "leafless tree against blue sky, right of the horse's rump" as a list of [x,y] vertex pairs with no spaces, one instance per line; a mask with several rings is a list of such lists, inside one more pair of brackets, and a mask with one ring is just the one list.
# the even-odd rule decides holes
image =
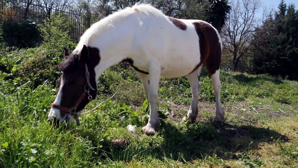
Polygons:
[[234,71],[241,57],[251,49],[256,28],[262,23],[255,14],[261,7],[260,0],[232,0],[232,10],[222,30],[224,50],[233,56]]

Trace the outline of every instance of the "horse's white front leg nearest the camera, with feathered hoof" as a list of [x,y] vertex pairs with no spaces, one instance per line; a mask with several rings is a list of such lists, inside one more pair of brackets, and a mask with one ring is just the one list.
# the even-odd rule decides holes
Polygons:
[[157,112],[157,96],[158,96],[158,84],[160,78],[160,66],[151,64],[149,66],[149,92],[148,102],[150,105],[149,120],[146,126],[142,128],[142,131],[146,135],[154,135],[159,130],[160,120]]

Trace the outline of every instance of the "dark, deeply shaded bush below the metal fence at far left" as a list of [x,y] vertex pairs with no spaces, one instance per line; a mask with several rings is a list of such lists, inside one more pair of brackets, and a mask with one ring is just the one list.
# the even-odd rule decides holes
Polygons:
[[41,42],[39,25],[32,19],[23,22],[4,21],[1,27],[0,36],[9,46],[31,48]]

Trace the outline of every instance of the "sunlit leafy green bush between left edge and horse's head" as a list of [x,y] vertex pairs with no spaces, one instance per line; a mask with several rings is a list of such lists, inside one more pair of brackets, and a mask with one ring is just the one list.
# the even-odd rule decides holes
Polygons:
[[0,46],[0,79],[19,78],[25,82],[32,81],[34,87],[46,80],[52,85],[58,85],[61,74],[58,65],[64,56],[63,47],[72,51],[77,44],[69,42],[69,27],[65,18],[60,15],[53,16],[51,21],[47,20],[43,27],[38,28],[36,31],[42,32],[44,42],[37,48],[15,49],[4,44]]

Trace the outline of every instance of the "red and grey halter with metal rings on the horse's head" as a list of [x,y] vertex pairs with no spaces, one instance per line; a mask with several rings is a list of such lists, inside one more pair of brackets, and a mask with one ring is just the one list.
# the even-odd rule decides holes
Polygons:
[[66,107],[63,107],[63,106],[54,104],[54,103],[52,103],[52,105],[51,105],[51,107],[54,108],[54,109],[62,110],[62,111],[65,111],[65,112],[69,112],[70,114],[74,115],[75,121],[76,121],[76,123],[77,123],[78,126],[80,125],[80,121],[79,121],[79,118],[77,117],[77,112],[76,112],[77,107],[79,106],[79,104],[81,103],[81,101],[83,100],[83,98],[85,97],[86,94],[88,94],[88,100],[91,101],[92,96],[90,95],[89,89],[95,90],[92,87],[91,83],[90,83],[90,80],[89,80],[90,79],[90,74],[89,74],[88,67],[87,67],[87,64],[86,63],[85,63],[85,69],[86,69],[86,73],[85,73],[86,85],[84,86],[84,91],[83,91],[81,97],[79,98],[79,100],[77,101],[77,103],[75,104],[75,106],[69,109],[69,108],[66,108]]

